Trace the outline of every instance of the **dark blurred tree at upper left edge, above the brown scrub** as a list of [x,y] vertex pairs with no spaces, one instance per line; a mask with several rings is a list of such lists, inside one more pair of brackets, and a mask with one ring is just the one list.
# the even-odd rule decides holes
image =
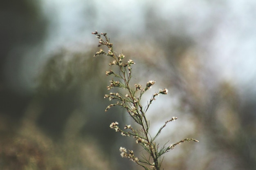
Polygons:
[[27,51],[42,42],[47,20],[36,2],[9,0],[1,2],[0,25],[0,112],[20,117],[29,100],[27,94],[17,93],[22,91],[17,81],[20,63]]

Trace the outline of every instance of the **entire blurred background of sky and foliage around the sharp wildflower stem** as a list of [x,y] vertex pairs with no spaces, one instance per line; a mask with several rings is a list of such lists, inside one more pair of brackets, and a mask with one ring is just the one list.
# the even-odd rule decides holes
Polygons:
[[[0,5],[0,169],[131,170],[109,128],[133,124],[104,112],[109,59],[94,58],[108,33],[132,59],[134,81],[168,88],[148,111],[158,141],[177,146],[172,170],[256,169],[256,1],[9,0]],[[145,105],[144,105],[145,106]],[[121,114],[120,114],[121,113]]]

